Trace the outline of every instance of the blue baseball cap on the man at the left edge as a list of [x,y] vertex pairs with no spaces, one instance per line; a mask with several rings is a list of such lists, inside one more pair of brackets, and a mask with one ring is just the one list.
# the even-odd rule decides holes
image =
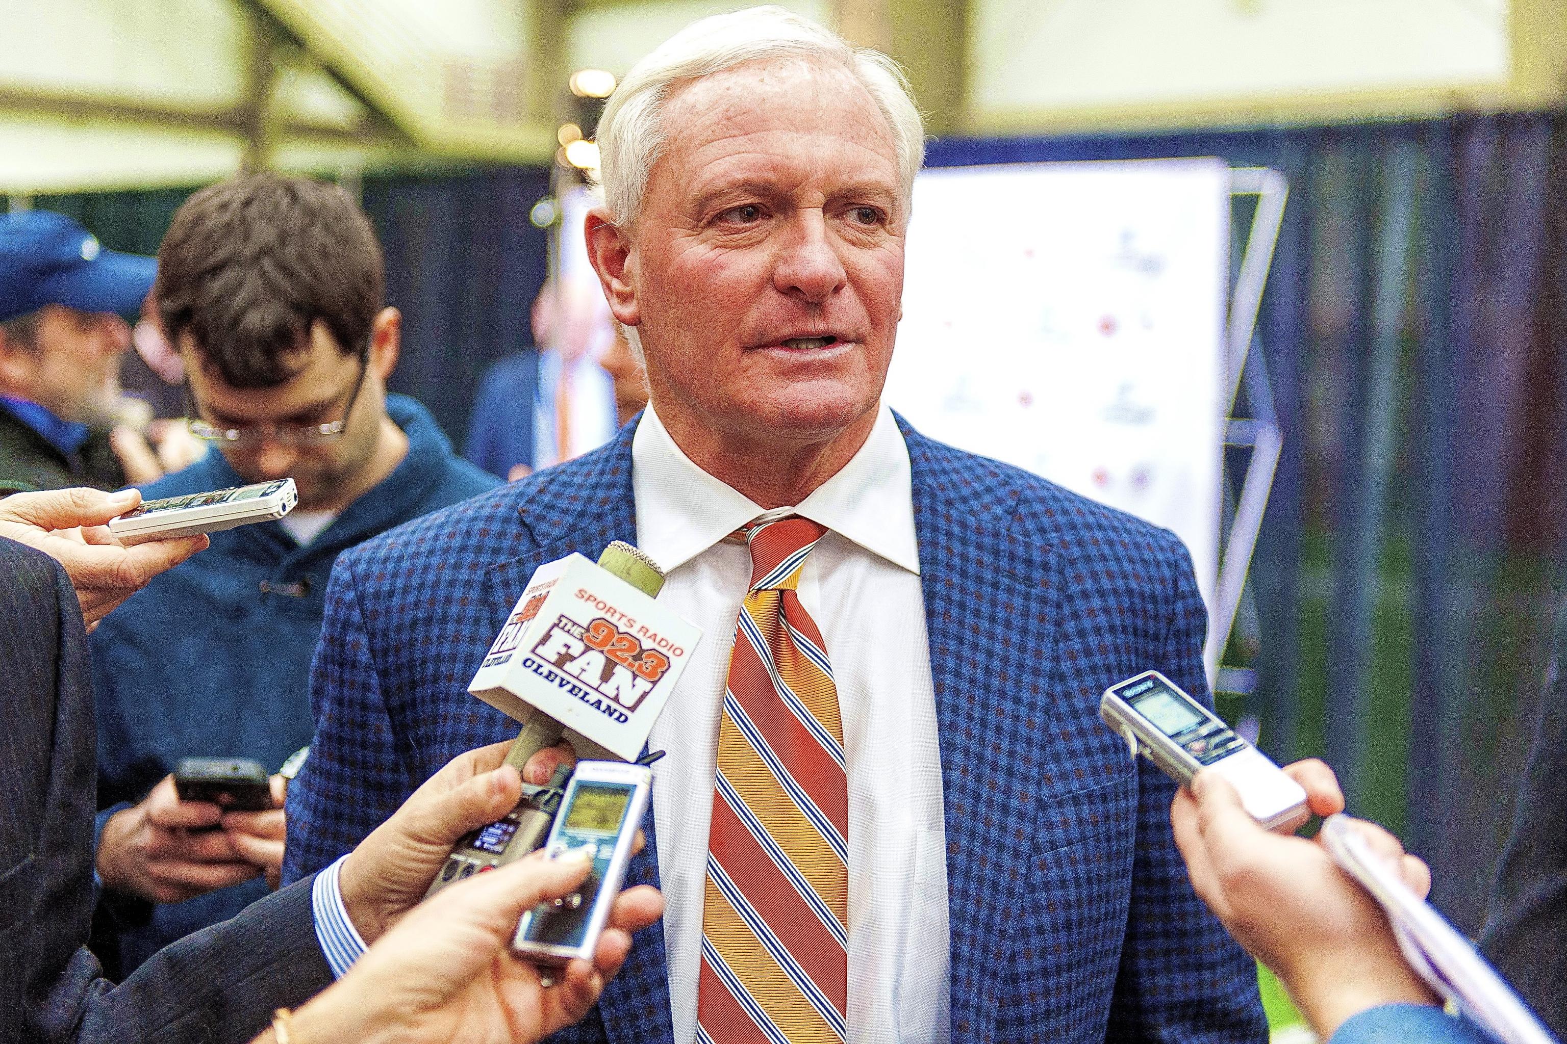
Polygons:
[[133,316],[157,275],[157,258],[105,250],[64,214],[0,216],[0,322],[44,305]]

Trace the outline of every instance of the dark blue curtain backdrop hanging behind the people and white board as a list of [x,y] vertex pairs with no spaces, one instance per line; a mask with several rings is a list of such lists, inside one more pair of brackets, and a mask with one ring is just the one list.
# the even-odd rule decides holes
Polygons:
[[[1326,756],[1471,931],[1561,590],[1564,141],[1562,116],[1522,114],[931,146],[935,166],[1213,155],[1290,178],[1250,363],[1285,434],[1252,567],[1261,639],[1230,657],[1260,689],[1232,709],[1260,717],[1274,756]],[[528,343],[544,236],[527,211],[545,185],[531,169],[364,182],[406,316],[393,383],[458,441],[481,369]],[[186,194],[34,203],[150,252]],[[975,216],[1019,205],[976,199]]]

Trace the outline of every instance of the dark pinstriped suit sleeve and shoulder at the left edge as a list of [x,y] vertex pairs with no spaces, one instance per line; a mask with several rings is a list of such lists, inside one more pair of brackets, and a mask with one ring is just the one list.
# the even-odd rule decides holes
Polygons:
[[331,981],[301,883],[163,950],[124,985],[83,942],[96,729],[81,609],[0,540],[0,1041],[244,1041]]

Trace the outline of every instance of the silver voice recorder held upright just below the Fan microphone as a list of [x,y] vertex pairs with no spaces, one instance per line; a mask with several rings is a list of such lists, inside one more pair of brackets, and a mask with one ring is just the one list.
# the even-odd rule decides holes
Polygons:
[[580,761],[544,845],[548,858],[586,851],[588,878],[575,892],[539,903],[517,923],[512,949],[539,964],[592,959],[610,906],[621,894],[653,770],[622,761]]

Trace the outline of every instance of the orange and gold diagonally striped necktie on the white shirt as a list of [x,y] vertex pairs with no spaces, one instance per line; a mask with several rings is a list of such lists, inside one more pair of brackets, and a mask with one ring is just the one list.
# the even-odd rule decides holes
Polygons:
[[821,632],[796,592],[824,532],[798,515],[744,531],[751,590],[718,729],[699,1044],[845,1039],[843,725]]

